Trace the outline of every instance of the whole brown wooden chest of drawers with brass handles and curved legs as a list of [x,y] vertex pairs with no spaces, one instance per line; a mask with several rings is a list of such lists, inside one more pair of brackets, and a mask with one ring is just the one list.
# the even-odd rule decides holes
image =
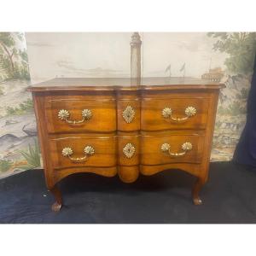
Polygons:
[[212,132],[223,84],[166,78],[52,79],[32,85],[47,188],[76,172],[125,183],[139,174],[181,169],[197,177],[195,205],[208,177]]

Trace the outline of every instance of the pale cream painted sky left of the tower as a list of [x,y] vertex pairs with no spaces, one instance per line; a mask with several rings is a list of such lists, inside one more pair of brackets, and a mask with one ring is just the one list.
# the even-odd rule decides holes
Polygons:
[[128,32],[28,32],[32,82],[57,77],[129,77]]

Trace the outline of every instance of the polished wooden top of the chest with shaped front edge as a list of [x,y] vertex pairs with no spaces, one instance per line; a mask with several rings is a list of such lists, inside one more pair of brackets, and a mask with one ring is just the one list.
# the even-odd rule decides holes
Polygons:
[[130,78],[56,78],[32,84],[29,91],[51,90],[172,90],[220,89],[224,84],[193,78],[143,78],[141,84]]

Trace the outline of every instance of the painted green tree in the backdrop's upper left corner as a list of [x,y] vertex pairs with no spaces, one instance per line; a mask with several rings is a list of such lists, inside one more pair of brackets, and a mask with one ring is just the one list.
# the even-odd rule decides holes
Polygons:
[[3,79],[29,79],[25,49],[18,49],[17,42],[23,41],[18,32],[0,32],[0,73]]

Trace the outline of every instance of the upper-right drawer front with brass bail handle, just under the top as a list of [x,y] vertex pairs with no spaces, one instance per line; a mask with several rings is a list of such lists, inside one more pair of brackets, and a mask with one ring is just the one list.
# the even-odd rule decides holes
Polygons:
[[143,99],[141,127],[144,131],[205,129],[208,99]]

